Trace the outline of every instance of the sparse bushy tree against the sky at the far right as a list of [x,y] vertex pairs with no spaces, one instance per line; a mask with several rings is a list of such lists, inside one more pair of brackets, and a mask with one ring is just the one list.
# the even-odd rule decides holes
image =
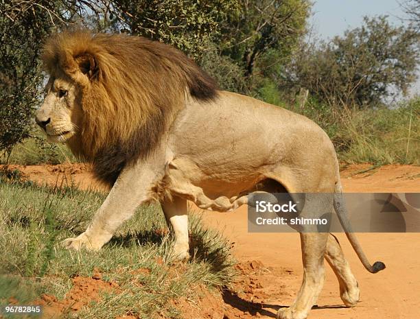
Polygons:
[[394,27],[385,16],[336,36],[331,43],[306,45],[285,72],[284,86],[301,86],[330,105],[377,106],[407,93],[417,79],[419,35]]

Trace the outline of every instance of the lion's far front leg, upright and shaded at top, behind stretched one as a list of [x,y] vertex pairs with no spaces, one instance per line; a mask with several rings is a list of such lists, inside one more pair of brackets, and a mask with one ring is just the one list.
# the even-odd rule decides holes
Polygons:
[[175,235],[175,244],[172,255],[175,260],[189,259],[188,237],[188,209],[187,200],[174,196],[172,200],[162,202],[168,225],[172,226]]

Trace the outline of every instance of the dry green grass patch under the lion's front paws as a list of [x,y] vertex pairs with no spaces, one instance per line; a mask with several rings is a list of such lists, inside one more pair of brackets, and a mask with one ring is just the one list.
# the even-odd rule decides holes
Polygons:
[[[141,206],[100,252],[72,252],[61,246],[86,228],[104,194],[75,189],[48,189],[32,183],[0,179],[0,305],[13,296],[28,304],[40,294],[63,298],[71,278],[92,276],[118,283],[118,291],[102,295],[75,314],[62,318],[182,318],[172,300],[194,300],[197,286],[209,289],[229,284],[234,275],[229,245],[215,231],[202,226],[193,214],[190,222],[191,261],[172,265],[172,237],[156,231],[166,228],[157,205]],[[162,263],[163,261],[163,263]],[[147,268],[150,273],[132,274]],[[136,284],[135,284],[136,283]]]

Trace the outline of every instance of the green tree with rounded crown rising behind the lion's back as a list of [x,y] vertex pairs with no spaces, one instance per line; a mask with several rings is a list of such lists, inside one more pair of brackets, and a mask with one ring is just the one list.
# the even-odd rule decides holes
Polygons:
[[250,91],[291,58],[305,34],[310,8],[307,0],[240,0],[240,10],[229,14],[220,50],[242,68]]

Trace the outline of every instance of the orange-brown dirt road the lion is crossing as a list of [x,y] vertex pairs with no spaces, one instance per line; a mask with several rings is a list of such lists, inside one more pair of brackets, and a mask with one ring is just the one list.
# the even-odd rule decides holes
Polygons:
[[[84,165],[14,168],[40,183],[100,187]],[[347,192],[420,192],[420,167],[350,165],[341,175]],[[290,305],[301,284],[299,235],[248,233],[244,206],[232,213],[205,212],[203,218],[235,243],[235,256],[248,278],[241,283],[240,294],[224,294],[224,318],[275,318],[279,306]],[[369,259],[386,263],[386,270],[378,274],[364,270],[345,235],[337,236],[358,279],[361,301],[351,309],[342,305],[338,282],[327,266],[325,286],[310,319],[420,318],[420,233],[358,234]]]

